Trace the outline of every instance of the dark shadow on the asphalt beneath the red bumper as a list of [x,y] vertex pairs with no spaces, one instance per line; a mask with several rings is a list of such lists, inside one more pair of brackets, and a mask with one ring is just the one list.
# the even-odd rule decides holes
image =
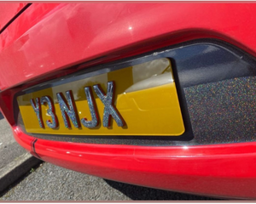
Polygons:
[[218,199],[216,198],[176,193],[167,190],[156,190],[132,184],[123,184],[107,179],[104,180],[111,187],[113,187],[116,190],[119,190],[120,192],[130,197],[134,201],[218,201]]

